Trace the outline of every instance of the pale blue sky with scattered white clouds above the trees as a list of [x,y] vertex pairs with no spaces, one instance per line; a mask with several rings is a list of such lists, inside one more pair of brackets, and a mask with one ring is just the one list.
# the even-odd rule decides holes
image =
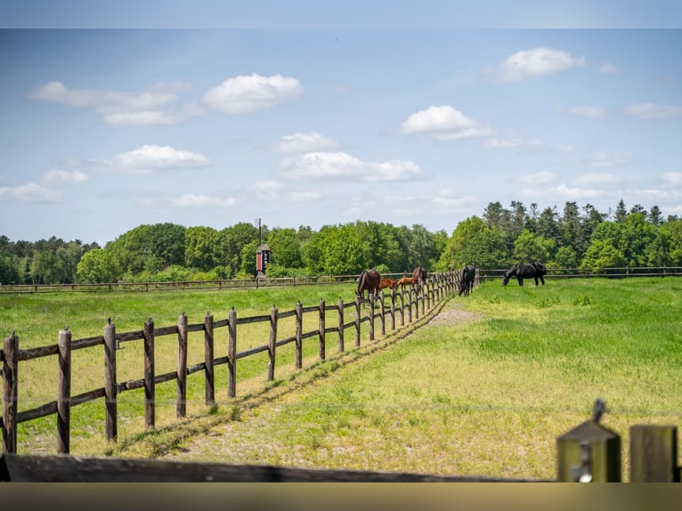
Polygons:
[[0,235],[682,216],[682,6],[471,4],[5,2]]

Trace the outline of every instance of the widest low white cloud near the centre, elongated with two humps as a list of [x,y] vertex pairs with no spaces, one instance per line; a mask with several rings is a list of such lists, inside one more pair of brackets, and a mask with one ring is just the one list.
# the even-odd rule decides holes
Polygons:
[[280,161],[280,174],[289,179],[351,181],[410,181],[421,177],[421,169],[410,160],[362,161],[345,152],[307,152]]

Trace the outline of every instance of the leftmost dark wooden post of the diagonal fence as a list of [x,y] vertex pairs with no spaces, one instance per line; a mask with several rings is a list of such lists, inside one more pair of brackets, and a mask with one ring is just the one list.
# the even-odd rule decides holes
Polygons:
[[4,337],[3,361],[3,452],[17,451],[17,396],[19,395],[19,337]]

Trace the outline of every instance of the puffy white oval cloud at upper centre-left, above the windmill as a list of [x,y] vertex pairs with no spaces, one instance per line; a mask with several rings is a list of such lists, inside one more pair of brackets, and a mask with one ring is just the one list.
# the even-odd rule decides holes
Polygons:
[[214,110],[240,114],[271,108],[302,93],[303,87],[296,78],[261,77],[254,73],[226,79],[204,94],[204,102]]

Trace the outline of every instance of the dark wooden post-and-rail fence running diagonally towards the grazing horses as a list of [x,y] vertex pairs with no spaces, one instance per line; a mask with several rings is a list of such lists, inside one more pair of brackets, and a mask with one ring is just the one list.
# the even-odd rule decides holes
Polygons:
[[[228,382],[227,395],[233,398],[237,395],[237,361],[242,358],[267,352],[269,363],[267,378],[275,377],[277,349],[283,345],[296,345],[296,369],[303,368],[303,341],[317,337],[319,340],[319,359],[326,358],[327,335],[336,334],[338,351],[345,351],[345,331],[353,329],[354,345],[361,345],[361,323],[369,324],[369,341],[375,340],[375,322],[379,320],[381,335],[386,334],[386,323],[391,329],[402,328],[406,323],[419,319],[430,311],[435,304],[456,292],[459,284],[458,272],[434,273],[426,280],[418,294],[413,294],[410,288],[404,291],[391,291],[385,296],[381,291],[378,297],[369,295],[369,299],[356,297],[354,302],[345,304],[339,299],[337,304],[319,304],[304,307],[298,302],[296,308],[280,312],[273,306],[269,314],[238,318],[233,308],[227,318],[215,320],[213,315],[207,314],[202,323],[188,324],[187,316],[180,315],[177,325],[156,327],[152,320],[145,321],[142,330],[118,333],[114,324],[107,322],[103,335],[73,340],[68,328],[59,332],[59,342],[56,345],[41,346],[21,350],[19,337],[12,335],[5,337],[4,349],[0,351],[0,361],[3,362],[3,417],[0,421],[3,435],[3,452],[17,452],[17,425],[21,422],[57,415],[57,452],[69,453],[70,438],[70,410],[79,404],[104,398],[105,404],[105,434],[107,440],[118,439],[118,395],[134,389],[144,389],[144,420],[147,428],[155,426],[155,389],[156,385],[176,380],[176,417],[186,415],[187,377],[198,372],[204,373],[205,401],[207,405],[215,402],[215,366],[227,364]],[[386,304],[388,301],[388,304]],[[367,312],[362,315],[361,304],[369,304]],[[354,319],[345,320],[345,311],[354,309]],[[377,311],[378,308],[378,311]],[[327,326],[327,312],[337,312],[337,324]],[[318,317],[317,328],[304,332],[304,314],[315,314]],[[278,328],[279,321],[295,317],[295,331],[293,335],[281,337]],[[397,325],[397,321],[400,325]],[[267,343],[238,351],[238,327],[249,323],[265,322],[270,324],[270,334]],[[228,348],[225,356],[216,357],[214,353],[215,331],[226,328]],[[188,363],[188,337],[190,332],[204,332],[204,361],[192,366]],[[290,333],[290,332],[289,332]],[[155,369],[154,349],[159,337],[176,336],[178,346],[177,369],[157,374]],[[130,381],[119,382],[117,378],[116,353],[123,343],[142,341],[144,345],[144,377]],[[85,393],[71,395],[71,354],[80,349],[103,345],[104,349],[104,386]],[[19,410],[18,402],[18,369],[20,361],[29,361],[47,356],[56,356],[58,372],[58,391],[56,401],[44,403],[29,410]]]

